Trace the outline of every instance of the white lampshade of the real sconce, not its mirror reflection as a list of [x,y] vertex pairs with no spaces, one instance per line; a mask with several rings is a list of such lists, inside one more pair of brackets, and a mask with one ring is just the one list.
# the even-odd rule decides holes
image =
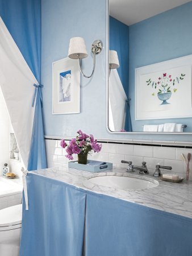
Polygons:
[[83,38],[71,38],[69,42],[68,57],[70,59],[84,59],[88,56]]

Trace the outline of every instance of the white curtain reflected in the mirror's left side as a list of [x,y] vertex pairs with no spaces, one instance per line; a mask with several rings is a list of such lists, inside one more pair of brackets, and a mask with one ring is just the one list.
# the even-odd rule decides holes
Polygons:
[[111,69],[108,96],[108,127],[111,131],[120,131],[125,127],[127,96],[116,69]]

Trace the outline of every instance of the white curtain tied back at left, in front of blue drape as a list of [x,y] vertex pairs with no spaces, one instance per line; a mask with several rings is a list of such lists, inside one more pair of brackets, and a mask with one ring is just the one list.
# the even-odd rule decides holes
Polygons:
[[25,168],[30,152],[37,81],[0,17],[0,86]]

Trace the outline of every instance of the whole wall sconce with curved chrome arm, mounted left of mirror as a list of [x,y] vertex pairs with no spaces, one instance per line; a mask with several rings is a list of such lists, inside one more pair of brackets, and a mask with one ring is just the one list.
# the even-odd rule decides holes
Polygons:
[[86,76],[81,68],[81,59],[84,59],[88,56],[85,41],[83,38],[75,37],[70,39],[68,57],[70,59],[78,59],[78,64],[82,75],[86,78],[90,78],[91,76],[93,76],[93,73],[95,71],[95,56],[102,51],[102,48],[103,43],[101,42],[101,40],[95,40],[91,45],[91,52],[93,53],[93,71],[90,76]]

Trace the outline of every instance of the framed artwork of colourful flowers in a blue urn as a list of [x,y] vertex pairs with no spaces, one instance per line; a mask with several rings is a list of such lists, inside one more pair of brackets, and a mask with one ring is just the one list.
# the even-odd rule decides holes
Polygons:
[[135,119],[192,117],[192,55],[135,69]]

